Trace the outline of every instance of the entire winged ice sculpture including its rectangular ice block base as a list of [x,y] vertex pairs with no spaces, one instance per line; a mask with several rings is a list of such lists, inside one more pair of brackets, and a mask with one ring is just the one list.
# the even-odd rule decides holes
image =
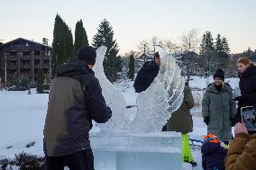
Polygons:
[[184,78],[174,58],[164,49],[160,53],[158,76],[137,97],[137,114],[126,117],[123,95],[105,77],[105,47],[96,50],[96,77],[112,118],[98,124],[100,133],[90,133],[91,147],[98,170],[181,169],[181,137],[172,131],[160,131],[183,99]]

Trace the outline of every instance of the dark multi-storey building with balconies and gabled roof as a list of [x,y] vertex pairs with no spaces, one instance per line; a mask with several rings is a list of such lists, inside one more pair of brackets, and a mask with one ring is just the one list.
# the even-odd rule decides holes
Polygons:
[[2,84],[5,85],[5,76],[8,81],[15,74],[28,76],[32,82],[36,82],[40,67],[44,71],[45,80],[50,82],[50,55],[51,47],[47,45],[45,40],[43,43],[39,43],[19,38],[2,44],[0,46]]

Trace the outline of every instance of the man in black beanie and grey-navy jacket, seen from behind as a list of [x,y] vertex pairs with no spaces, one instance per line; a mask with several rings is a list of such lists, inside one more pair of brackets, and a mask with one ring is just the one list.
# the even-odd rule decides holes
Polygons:
[[64,165],[70,170],[94,170],[92,120],[104,123],[112,116],[92,70],[95,62],[96,49],[86,46],[57,69],[43,130],[45,170],[63,170]]

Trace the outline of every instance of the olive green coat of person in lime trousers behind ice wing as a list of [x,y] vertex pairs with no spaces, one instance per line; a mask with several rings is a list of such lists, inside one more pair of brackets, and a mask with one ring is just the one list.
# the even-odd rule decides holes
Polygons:
[[185,85],[183,92],[183,102],[178,110],[171,114],[171,117],[167,122],[168,131],[177,131],[181,133],[189,133],[193,131],[193,121],[190,114],[190,109],[192,109],[195,105],[194,98],[189,86]]

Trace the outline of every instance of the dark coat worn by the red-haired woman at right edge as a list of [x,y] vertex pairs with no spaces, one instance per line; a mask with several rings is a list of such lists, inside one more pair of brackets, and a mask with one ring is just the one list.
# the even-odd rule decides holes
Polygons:
[[256,66],[250,66],[240,75],[239,87],[242,97],[238,101],[235,122],[241,122],[241,108],[245,106],[256,107]]

